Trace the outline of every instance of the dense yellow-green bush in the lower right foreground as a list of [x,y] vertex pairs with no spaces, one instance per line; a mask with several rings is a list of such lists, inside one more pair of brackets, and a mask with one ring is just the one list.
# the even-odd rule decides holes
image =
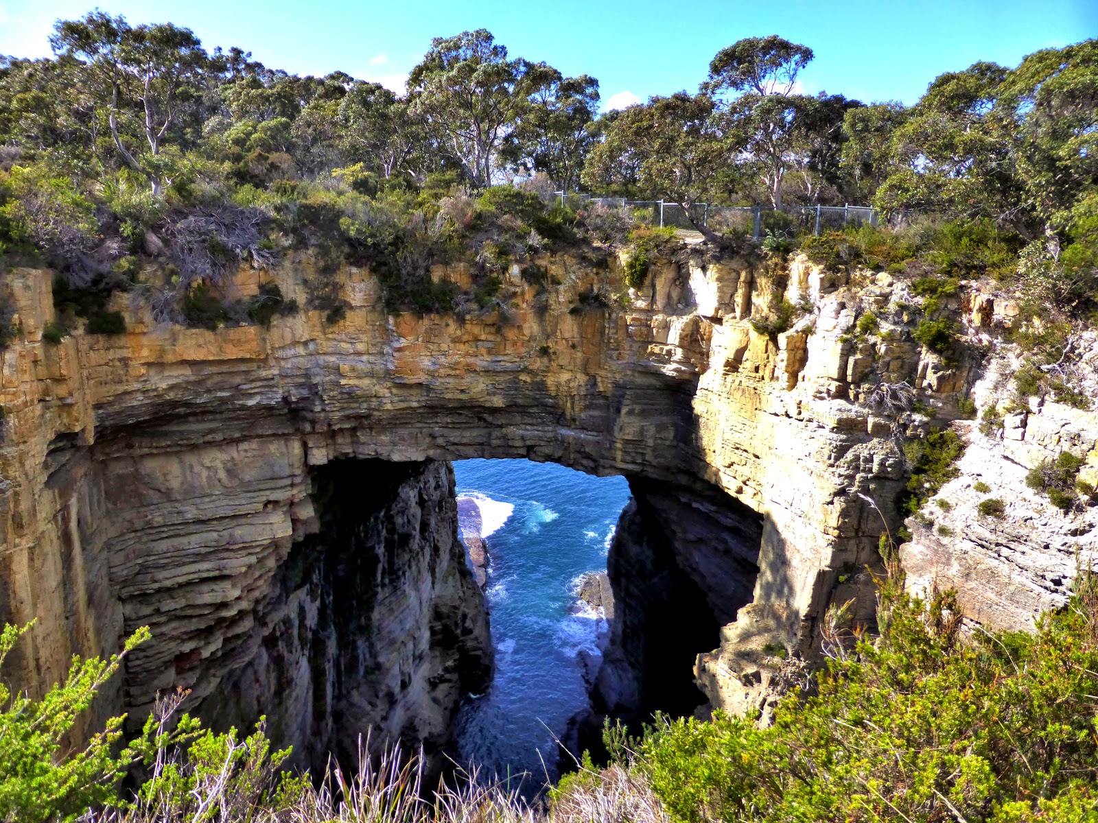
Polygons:
[[955,595],[892,580],[879,638],[826,646],[818,694],[774,723],[677,720],[639,768],[679,821],[1098,819],[1098,590],[1035,634],[962,630]]

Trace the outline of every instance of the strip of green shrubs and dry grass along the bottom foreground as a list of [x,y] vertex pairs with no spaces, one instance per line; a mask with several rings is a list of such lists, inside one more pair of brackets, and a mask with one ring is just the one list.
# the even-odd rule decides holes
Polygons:
[[[117,667],[76,661],[43,700],[4,694],[0,818],[9,821],[1087,821],[1098,808],[1098,582],[1087,573],[1029,632],[966,631],[956,596],[905,591],[892,565],[876,631],[833,607],[827,665],[757,717],[657,715],[639,737],[607,723],[610,762],[586,754],[529,804],[459,775],[426,790],[422,760],[390,748],[357,770],[280,770],[262,724],[214,734],[163,698],[123,748],[122,719],[83,749],[61,739]],[[21,630],[8,627],[7,654]],[[138,632],[126,650],[147,642]],[[122,788],[127,769],[144,776]]]

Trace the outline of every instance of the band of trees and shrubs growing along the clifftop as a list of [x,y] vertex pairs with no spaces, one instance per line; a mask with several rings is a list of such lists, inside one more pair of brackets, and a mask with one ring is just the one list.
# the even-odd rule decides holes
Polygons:
[[[675,241],[643,230],[654,213],[574,192],[677,205],[718,251],[990,279],[1023,296],[1017,335],[1039,338],[1035,368],[1098,308],[1095,41],[949,71],[905,106],[799,93],[813,49],[748,37],[696,92],[605,113],[595,78],[514,56],[485,30],[435,38],[403,93],[98,10],[58,21],[51,45],[52,58],[0,58],[0,266],[58,272],[61,337],[123,331],[104,300],[120,289],[163,323],[338,323],[344,266],[369,267],[393,313],[505,315],[504,273],[563,249],[631,249],[639,288]],[[886,223],[815,236],[776,212],[755,250],[720,211],[842,203]],[[228,300],[233,270],[299,250],[321,268],[303,305]],[[459,260],[472,286],[432,278]],[[919,340],[951,356],[955,329],[925,314]]]

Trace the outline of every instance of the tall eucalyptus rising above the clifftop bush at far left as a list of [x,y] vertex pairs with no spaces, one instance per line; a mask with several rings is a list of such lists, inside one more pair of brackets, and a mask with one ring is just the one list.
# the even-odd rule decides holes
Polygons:
[[223,63],[212,60],[189,29],[131,26],[124,16],[98,10],[58,21],[51,45],[55,54],[85,64],[91,93],[107,109],[119,156],[148,178],[154,195],[163,194],[172,173],[165,149]]

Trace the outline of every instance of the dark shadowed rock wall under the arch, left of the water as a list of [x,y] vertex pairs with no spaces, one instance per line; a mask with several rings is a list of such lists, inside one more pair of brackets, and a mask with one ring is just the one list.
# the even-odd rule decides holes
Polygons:
[[[448,463],[338,460],[311,472],[320,530],[293,544],[253,631],[247,659],[203,704],[215,726],[267,717],[298,762],[355,763],[359,735],[421,743],[442,766],[453,711],[483,691],[492,645],[457,539]],[[203,662],[209,681],[224,666]],[[365,744],[365,741],[363,741]]]

